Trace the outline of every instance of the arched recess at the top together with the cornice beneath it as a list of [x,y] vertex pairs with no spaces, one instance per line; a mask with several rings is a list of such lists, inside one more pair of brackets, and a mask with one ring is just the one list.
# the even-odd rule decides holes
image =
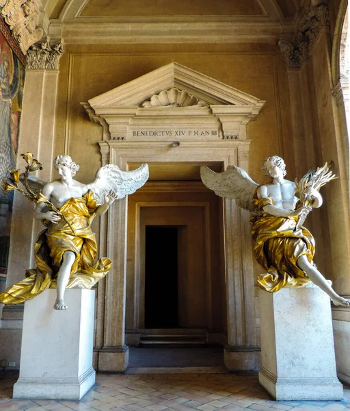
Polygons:
[[68,43],[273,42],[293,32],[305,1],[42,0],[42,7],[51,38]]

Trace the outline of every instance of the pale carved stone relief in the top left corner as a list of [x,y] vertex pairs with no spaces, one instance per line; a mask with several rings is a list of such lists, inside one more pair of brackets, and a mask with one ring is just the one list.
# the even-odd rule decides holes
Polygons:
[[1,0],[1,16],[8,24],[12,35],[18,40],[23,53],[42,38],[38,28],[40,0]]

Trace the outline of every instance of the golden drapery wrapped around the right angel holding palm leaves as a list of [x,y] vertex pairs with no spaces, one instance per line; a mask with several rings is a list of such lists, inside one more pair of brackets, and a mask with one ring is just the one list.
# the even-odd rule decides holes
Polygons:
[[258,199],[254,196],[260,216],[250,219],[255,242],[254,254],[267,274],[259,275],[258,285],[266,291],[281,288],[303,287],[310,282],[306,273],[297,266],[300,256],[307,256],[313,264],[314,238],[305,227],[297,227],[299,217],[278,217],[263,211],[264,206],[273,206],[273,199]]

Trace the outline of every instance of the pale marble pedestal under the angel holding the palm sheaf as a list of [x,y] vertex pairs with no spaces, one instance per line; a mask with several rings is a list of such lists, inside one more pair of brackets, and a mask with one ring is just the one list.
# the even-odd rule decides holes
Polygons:
[[317,286],[259,290],[260,384],[278,401],[343,398],[329,297]]

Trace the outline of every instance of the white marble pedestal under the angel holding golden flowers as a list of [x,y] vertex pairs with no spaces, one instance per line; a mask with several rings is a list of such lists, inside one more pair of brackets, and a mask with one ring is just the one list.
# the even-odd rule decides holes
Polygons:
[[68,310],[53,310],[56,290],[25,302],[20,375],[14,398],[79,400],[95,383],[94,290],[66,290]]

